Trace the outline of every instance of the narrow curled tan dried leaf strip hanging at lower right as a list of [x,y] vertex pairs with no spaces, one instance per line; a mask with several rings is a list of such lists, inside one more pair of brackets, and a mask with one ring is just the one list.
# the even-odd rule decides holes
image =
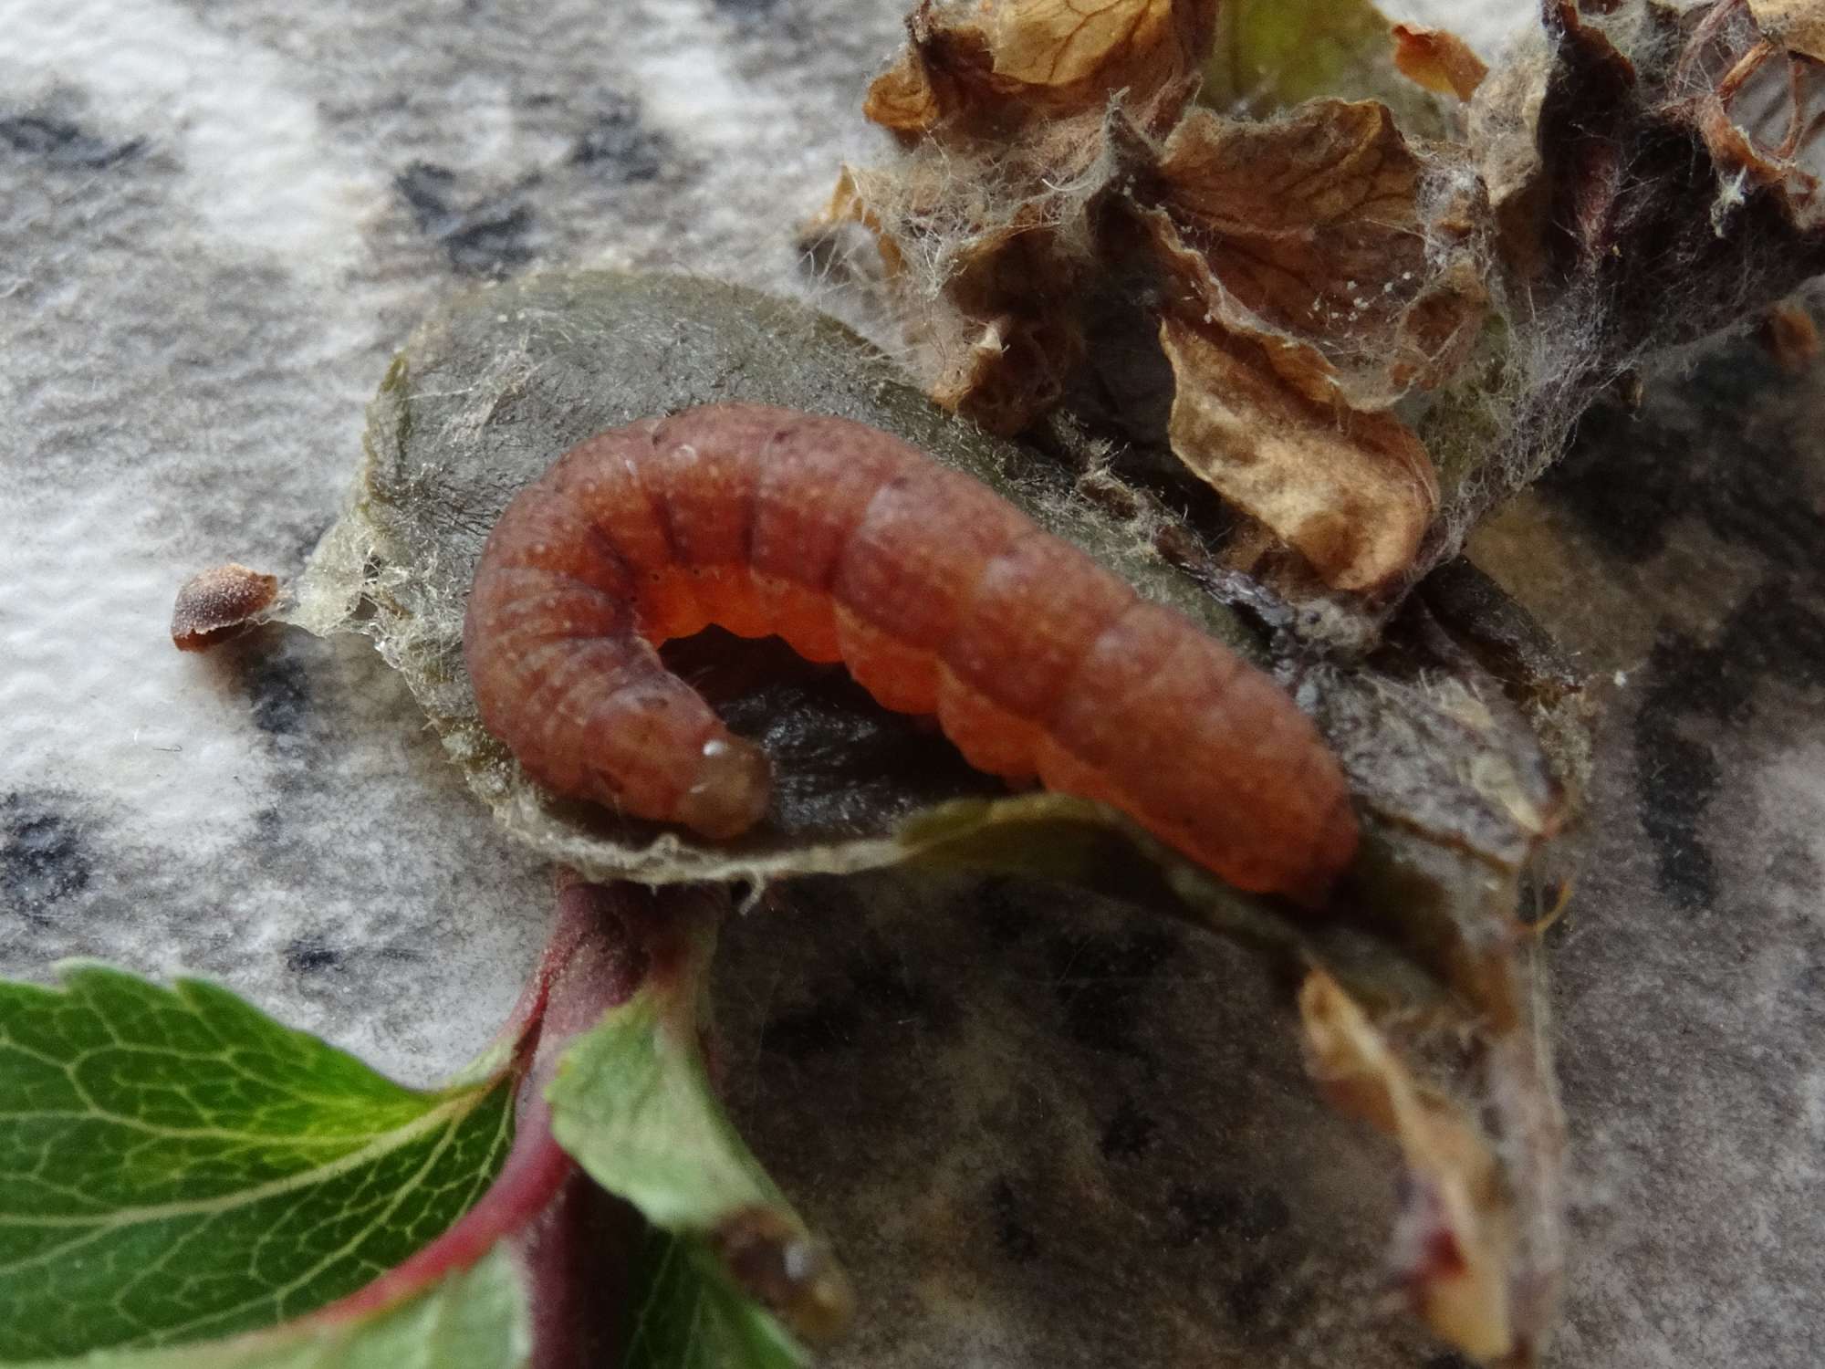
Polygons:
[[1299,1019],[1327,1097],[1400,1146],[1411,1183],[1394,1261],[1416,1311],[1473,1358],[1509,1354],[1513,1216],[1493,1148],[1456,1103],[1414,1079],[1321,969],[1299,989]]

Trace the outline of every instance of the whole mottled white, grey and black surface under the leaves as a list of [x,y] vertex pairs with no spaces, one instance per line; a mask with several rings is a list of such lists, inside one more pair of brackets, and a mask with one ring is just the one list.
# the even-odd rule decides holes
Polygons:
[[[790,228],[872,146],[898,9],[0,0],[0,969],[206,971],[411,1079],[489,1035],[546,873],[361,643],[179,657],[172,591],[296,571],[464,281],[810,292]],[[1821,420],[1723,354],[1478,542],[1622,681],[1551,938],[1560,1365],[1820,1360]],[[891,878],[726,951],[739,1112],[865,1298],[840,1362],[1451,1364],[1378,1292],[1389,1154],[1243,953]]]

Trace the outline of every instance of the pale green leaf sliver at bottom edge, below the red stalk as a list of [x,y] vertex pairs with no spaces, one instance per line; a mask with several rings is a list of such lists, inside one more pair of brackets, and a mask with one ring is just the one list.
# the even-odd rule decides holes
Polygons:
[[95,1351],[18,1369],[522,1369],[531,1356],[526,1291],[493,1250],[423,1294],[350,1322],[299,1322],[212,1345]]

